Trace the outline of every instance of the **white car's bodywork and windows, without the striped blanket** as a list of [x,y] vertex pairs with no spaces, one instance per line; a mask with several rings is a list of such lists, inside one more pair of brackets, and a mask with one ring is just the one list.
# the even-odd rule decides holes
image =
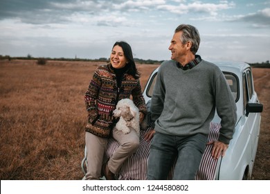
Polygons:
[[[215,164],[215,179],[250,179],[258,147],[260,112],[263,107],[254,89],[252,70],[244,62],[213,63],[224,73],[237,105],[235,133],[225,157]],[[158,69],[152,72],[143,91],[146,102],[152,97]],[[220,118],[215,114],[212,123],[219,122]]]

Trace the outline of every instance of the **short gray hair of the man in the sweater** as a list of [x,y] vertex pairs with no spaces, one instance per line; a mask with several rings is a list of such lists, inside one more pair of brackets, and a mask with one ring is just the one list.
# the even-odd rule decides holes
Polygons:
[[180,31],[183,32],[182,36],[180,37],[181,42],[186,44],[188,41],[192,43],[190,51],[195,55],[199,49],[199,42],[201,41],[199,37],[199,31],[194,26],[189,24],[181,24],[175,30],[174,33],[179,33]]

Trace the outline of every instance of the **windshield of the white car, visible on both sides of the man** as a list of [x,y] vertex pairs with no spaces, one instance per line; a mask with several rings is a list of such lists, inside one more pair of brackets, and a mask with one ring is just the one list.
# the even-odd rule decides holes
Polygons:
[[[150,84],[148,85],[147,90],[146,90],[146,95],[150,98],[152,97],[154,85],[156,84],[156,74],[157,73],[155,73],[152,76],[152,79],[150,80]],[[233,98],[235,99],[235,102],[236,102],[238,99],[238,93],[239,93],[237,77],[232,73],[226,73],[226,72],[224,72],[224,76],[228,82],[228,85],[231,88],[231,91],[233,93]]]

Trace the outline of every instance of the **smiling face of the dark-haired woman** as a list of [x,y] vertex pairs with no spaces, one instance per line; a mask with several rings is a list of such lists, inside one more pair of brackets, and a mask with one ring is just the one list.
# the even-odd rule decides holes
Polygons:
[[123,48],[121,46],[114,46],[114,48],[111,51],[111,65],[115,69],[120,69],[125,67],[127,64],[127,59],[125,58]]

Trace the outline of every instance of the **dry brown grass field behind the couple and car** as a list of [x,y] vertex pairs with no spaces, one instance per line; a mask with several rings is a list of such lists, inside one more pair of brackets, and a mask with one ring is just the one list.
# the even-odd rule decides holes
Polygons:
[[[82,179],[84,92],[100,62],[0,61],[0,179]],[[138,64],[141,84],[157,65]],[[270,179],[270,69],[253,69],[262,104],[253,179]]]

